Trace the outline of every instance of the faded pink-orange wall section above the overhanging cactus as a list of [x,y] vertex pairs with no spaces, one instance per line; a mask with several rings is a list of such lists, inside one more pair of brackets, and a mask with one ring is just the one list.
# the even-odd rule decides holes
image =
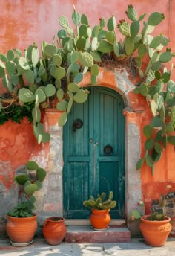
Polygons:
[[53,36],[59,30],[59,16],[65,15],[70,19],[73,4],[79,13],[88,16],[90,25],[99,22],[104,16],[108,19],[116,16],[116,22],[125,19],[125,10],[128,4],[136,7],[138,16],[142,13],[159,11],[164,13],[166,19],[156,29],[156,33],[164,33],[171,39],[171,46],[175,45],[175,0],[2,0],[1,10],[1,52],[9,48],[27,48],[33,42],[40,44],[42,41],[52,42]]

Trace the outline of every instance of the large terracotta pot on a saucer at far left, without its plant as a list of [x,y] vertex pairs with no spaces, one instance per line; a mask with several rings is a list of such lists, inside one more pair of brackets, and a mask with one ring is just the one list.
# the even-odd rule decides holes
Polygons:
[[32,217],[11,217],[7,215],[6,231],[13,243],[30,243],[36,234],[37,214]]

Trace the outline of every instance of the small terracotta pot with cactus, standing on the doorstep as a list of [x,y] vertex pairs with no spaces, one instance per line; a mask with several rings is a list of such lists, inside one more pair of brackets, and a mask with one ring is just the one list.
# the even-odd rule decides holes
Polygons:
[[110,223],[110,209],[116,207],[116,201],[113,201],[113,191],[110,191],[108,199],[106,199],[106,193],[103,192],[98,195],[96,199],[90,196],[88,201],[84,201],[85,207],[91,208],[90,222],[94,229],[106,229]]

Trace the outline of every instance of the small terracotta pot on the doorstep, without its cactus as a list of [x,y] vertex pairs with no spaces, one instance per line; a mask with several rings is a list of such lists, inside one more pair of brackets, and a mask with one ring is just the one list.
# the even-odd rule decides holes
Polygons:
[[90,221],[93,225],[93,228],[97,229],[105,229],[108,228],[108,224],[110,223],[110,214],[108,210],[96,210],[91,209],[92,214],[90,215]]

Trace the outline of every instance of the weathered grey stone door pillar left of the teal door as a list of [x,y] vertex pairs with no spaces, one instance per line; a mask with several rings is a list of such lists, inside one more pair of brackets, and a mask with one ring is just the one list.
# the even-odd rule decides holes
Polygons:
[[[47,113],[49,115],[49,113]],[[51,114],[50,114],[51,115]],[[62,216],[62,128],[58,124],[49,127],[50,147],[47,155],[48,174],[42,189],[44,198],[40,214]],[[43,212],[44,210],[44,212]]]

